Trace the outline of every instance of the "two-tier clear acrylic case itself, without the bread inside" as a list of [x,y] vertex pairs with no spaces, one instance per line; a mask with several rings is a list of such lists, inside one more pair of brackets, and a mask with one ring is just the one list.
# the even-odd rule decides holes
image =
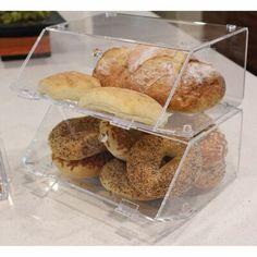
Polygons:
[[[40,48],[40,39],[46,34],[50,37],[51,57],[44,59],[42,69],[41,65],[37,66],[42,60],[32,57]],[[127,217],[144,216],[150,220],[161,221],[191,217],[232,182],[238,171],[242,127],[240,106],[244,97],[247,38],[247,28],[235,25],[174,22],[119,13],[98,14],[47,27],[38,37],[21,68],[17,79],[12,85],[21,97],[47,99],[53,103],[23,158],[24,166],[34,174],[52,178],[57,183],[88,193]],[[98,60],[108,49],[133,48],[138,45],[158,47],[162,50],[172,49],[183,56],[171,89],[166,101],[161,103],[160,115],[152,125],[135,121],[133,117],[124,119],[107,111],[78,107],[76,101],[52,100],[38,94],[39,81],[48,75],[64,71],[91,74]],[[228,57],[225,49],[230,49]],[[234,52],[234,56],[231,52]],[[225,94],[212,108],[188,114],[172,111],[168,107],[180,89],[183,73],[191,59],[210,63],[219,71],[225,81]],[[163,117],[167,114],[169,120],[163,125]],[[123,130],[142,131],[183,145],[183,156],[166,194],[155,200],[131,200],[110,194],[101,186],[99,179],[74,181],[64,178],[52,163],[48,135],[59,122],[83,115],[95,117]],[[205,152],[200,152],[199,149],[204,148],[213,133],[222,135],[224,140],[218,142],[217,148],[223,147],[225,150],[222,164],[209,159],[207,180],[217,179],[213,175],[217,169],[221,176],[215,186],[206,188],[197,186],[197,183],[199,185],[203,182],[200,182],[201,163],[205,158]],[[196,158],[192,157],[194,155]],[[199,162],[196,163],[195,159],[199,159]],[[186,173],[188,170],[195,171],[193,179]],[[192,182],[187,184],[186,191],[176,194],[178,184],[184,180],[183,178],[189,178]]]

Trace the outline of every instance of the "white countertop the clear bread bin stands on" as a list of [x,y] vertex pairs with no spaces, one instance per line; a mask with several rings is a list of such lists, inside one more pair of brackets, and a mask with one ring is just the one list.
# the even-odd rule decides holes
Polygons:
[[51,182],[32,179],[20,169],[21,157],[49,107],[46,101],[17,98],[10,90],[21,64],[0,62],[0,137],[12,179],[9,199],[0,203],[0,245],[257,244],[256,76],[246,73],[238,176],[193,219],[173,231],[171,223],[127,221],[105,204],[70,188],[53,188],[57,192],[44,194],[41,185]]

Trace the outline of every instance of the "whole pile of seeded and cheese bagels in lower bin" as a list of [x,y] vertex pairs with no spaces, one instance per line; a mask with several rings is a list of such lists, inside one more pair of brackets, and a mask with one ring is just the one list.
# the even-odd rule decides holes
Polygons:
[[[98,178],[112,194],[132,200],[173,196],[192,187],[211,189],[223,178],[227,140],[218,130],[195,144],[181,161],[186,145],[95,118],[64,120],[49,135],[52,161],[73,180]],[[178,173],[178,168],[180,172]]]

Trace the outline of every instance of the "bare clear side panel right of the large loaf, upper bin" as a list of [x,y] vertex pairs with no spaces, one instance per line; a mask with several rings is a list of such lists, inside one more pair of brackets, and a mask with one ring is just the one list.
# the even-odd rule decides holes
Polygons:
[[244,98],[242,85],[245,83],[247,34],[247,30],[243,30],[193,53],[196,58],[211,63],[224,77],[227,90],[221,105],[240,106]]

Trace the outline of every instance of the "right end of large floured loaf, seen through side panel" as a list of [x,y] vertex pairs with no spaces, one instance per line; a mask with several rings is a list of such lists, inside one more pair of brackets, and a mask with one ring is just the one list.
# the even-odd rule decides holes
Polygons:
[[210,64],[189,61],[169,105],[179,112],[201,112],[216,106],[225,94],[225,82]]

